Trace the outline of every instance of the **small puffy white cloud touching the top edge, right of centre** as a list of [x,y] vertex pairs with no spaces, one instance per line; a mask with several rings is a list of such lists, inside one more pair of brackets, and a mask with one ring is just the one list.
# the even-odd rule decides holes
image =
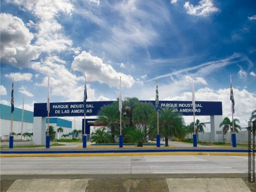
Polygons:
[[199,5],[192,5],[189,2],[186,2],[184,4],[185,9],[187,10],[187,13],[190,15],[195,16],[203,16],[207,17],[211,13],[217,12],[219,9],[214,6],[212,3],[212,0],[201,0],[199,2]]

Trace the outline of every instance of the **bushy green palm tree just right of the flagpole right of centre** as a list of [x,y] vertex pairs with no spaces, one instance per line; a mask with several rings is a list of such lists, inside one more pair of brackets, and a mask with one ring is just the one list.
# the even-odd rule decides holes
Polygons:
[[[165,146],[169,146],[168,138],[169,137],[182,137],[184,130],[184,119],[181,114],[175,112],[175,108],[165,107],[160,108],[159,111],[159,133],[165,138]],[[156,117],[156,115],[152,116],[153,118]],[[156,118],[155,118],[156,119]],[[156,134],[156,123],[151,125],[151,133]],[[153,131],[153,130],[154,131]]]

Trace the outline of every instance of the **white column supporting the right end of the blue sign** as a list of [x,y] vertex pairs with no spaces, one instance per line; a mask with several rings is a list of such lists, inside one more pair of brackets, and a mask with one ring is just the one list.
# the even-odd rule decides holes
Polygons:
[[220,128],[220,123],[222,122],[222,115],[213,115],[210,116],[211,119],[211,142],[219,142],[222,141],[222,134],[216,134],[216,131],[222,131]]

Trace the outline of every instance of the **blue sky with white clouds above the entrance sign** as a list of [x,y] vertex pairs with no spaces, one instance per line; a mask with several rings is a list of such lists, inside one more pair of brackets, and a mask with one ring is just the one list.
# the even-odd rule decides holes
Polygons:
[[[51,101],[118,97],[222,101],[236,116],[256,109],[255,1],[1,1],[1,103],[27,109]],[[8,104],[9,103],[9,104]],[[208,117],[207,117],[208,118]],[[207,119],[204,119],[205,121]]]

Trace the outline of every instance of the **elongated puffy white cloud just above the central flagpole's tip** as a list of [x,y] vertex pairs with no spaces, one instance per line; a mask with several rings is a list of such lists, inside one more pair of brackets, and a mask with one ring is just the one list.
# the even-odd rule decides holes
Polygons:
[[132,76],[118,73],[111,65],[103,63],[100,58],[86,51],[74,58],[71,68],[85,73],[88,81],[98,81],[117,87],[119,85],[119,77],[122,76],[122,85],[124,87],[131,87],[134,84]]

